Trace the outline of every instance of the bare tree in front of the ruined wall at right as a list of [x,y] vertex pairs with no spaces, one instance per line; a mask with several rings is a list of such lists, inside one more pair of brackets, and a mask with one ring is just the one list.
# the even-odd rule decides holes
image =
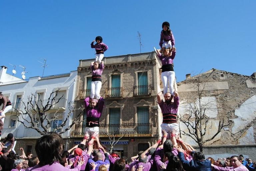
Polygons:
[[181,130],[181,133],[191,137],[199,145],[201,152],[203,152],[206,142],[213,140],[221,132],[222,128],[230,125],[230,122],[225,122],[224,118],[220,118],[217,129],[215,129],[216,132],[213,132],[211,135],[208,134],[209,131],[212,132],[214,129],[212,129],[213,122],[207,116],[207,112],[217,110],[212,109],[213,100],[208,100],[208,102],[202,100],[208,86],[210,85],[207,82],[201,82],[196,79],[194,83],[196,95],[188,98],[186,101],[189,107],[185,115],[178,116],[179,121],[188,129],[188,131]]

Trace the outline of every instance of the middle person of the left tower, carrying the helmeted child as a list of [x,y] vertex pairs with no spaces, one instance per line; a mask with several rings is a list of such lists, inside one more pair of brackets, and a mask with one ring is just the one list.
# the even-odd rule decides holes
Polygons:
[[104,68],[104,62],[92,62],[92,82],[91,82],[91,99],[100,99],[100,89],[101,89],[101,74]]

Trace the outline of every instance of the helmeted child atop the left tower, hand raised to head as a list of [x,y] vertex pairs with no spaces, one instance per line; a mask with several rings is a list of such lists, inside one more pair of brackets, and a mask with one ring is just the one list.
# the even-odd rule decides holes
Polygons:
[[[94,42],[97,42],[95,45],[93,44]],[[108,46],[102,42],[102,37],[97,36],[95,40],[91,43],[91,48],[95,48],[96,50],[96,58],[95,62],[101,62],[101,60],[104,57],[104,52],[108,49]]]

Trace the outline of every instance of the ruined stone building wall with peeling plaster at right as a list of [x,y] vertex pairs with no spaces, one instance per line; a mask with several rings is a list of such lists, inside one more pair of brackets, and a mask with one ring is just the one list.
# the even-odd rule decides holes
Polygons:
[[[213,140],[205,144],[208,146],[205,147],[204,153],[218,157],[243,154],[256,158],[256,155],[252,152],[256,148],[255,77],[217,69],[211,69],[193,77],[188,74],[186,80],[177,83],[181,98],[179,107],[181,117],[188,113],[189,103],[187,101],[198,97],[197,83],[201,83],[200,90],[204,85],[202,103],[209,104],[206,115],[213,124],[206,136],[211,137],[216,133],[220,119],[223,119],[224,123],[230,123]],[[180,123],[180,127],[187,131],[187,127],[182,123]],[[192,145],[197,145],[188,136],[183,136],[183,139]],[[221,146],[222,150],[210,150],[214,149],[214,146],[218,148]],[[241,150],[238,147],[241,147]],[[236,150],[233,150],[233,148]],[[247,150],[245,150],[246,148]],[[245,154],[245,151],[249,153]]]

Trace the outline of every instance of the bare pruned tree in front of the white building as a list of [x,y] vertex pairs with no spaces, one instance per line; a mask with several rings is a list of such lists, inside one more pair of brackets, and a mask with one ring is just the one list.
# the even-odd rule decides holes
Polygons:
[[[27,102],[24,102],[23,100],[21,102],[22,106],[24,106],[25,112],[23,110],[20,110],[20,108],[14,108],[16,113],[15,114],[12,113],[12,115],[16,116],[17,121],[22,123],[25,128],[35,129],[41,135],[49,132],[49,128],[51,127],[52,122],[56,122],[60,117],[62,117],[62,113],[59,112],[59,109],[56,109],[54,114],[49,114],[49,111],[52,108],[54,108],[55,105],[57,105],[58,103],[61,103],[64,99],[63,95],[61,96],[61,98],[56,98],[59,90],[60,89],[51,92],[47,100],[42,100],[39,93],[37,93],[38,100],[36,100],[36,96],[34,94],[31,94],[31,96],[28,97]],[[83,107],[74,109],[74,104],[72,102],[68,102],[68,110],[69,112],[67,113],[65,118],[63,118],[62,123],[60,125],[57,125],[57,127],[53,128],[51,131],[57,131],[60,129],[61,131],[58,133],[62,134],[67,130],[71,129],[71,127],[74,124],[83,122],[83,121],[79,121],[80,116],[83,113]],[[79,111],[80,113],[73,119],[71,123],[69,123],[70,125],[68,127],[66,127],[65,129],[62,129],[66,126],[66,123],[71,117],[71,114],[74,113],[75,111]]]

